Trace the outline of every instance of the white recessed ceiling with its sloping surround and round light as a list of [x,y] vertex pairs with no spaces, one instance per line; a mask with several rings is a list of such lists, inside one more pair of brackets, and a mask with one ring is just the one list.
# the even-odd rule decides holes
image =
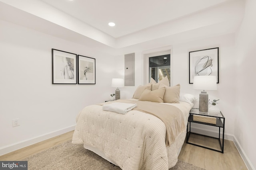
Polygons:
[[2,20],[118,55],[234,33],[244,0],[0,0],[0,10]]

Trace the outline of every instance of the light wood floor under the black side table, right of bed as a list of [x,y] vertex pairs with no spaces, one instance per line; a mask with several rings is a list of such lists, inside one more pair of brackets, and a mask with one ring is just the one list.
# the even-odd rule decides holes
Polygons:
[[[189,141],[220,150],[218,140],[191,134]],[[187,144],[182,146],[178,159],[206,170],[247,170],[233,141],[224,140],[224,153]]]

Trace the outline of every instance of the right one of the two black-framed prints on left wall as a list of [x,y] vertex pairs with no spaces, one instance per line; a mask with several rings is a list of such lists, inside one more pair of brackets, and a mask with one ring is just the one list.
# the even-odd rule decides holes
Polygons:
[[95,59],[78,55],[78,84],[96,84]]

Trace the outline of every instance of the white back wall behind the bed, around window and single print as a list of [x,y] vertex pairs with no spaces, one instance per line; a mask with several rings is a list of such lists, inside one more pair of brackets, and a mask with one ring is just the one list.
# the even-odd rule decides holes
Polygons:
[[[180,84],[181,86],[181,93],[190,93],[199,98],[200,90],[194,90],[193,85],[189,84],[189,56],[188,53],[190,51],[196,51],[201,49],[209,49],[219,47],[219,82],[218,83],[218,90],[208,90],[207,93],[209,94],[209,99],[220,99],[220,104],[218,107],[222,110],[226,118],[226,127],[225,127],[225,134],[226,137],[230,140],[234,135],[234,102],[236,102],[236,95],[234,93],[235,87],[234,82],[236,80],[236,68],[235,65],[235,34],[228,34],[222,35],[213,38],[206,38],[201,39],[198,41],[192,41],[188,43],[176,44],[170,47],[165,48],[158,48],[154,49],[156,51],[160,50],[167,50],[171,48],[171,70],[172,70],[172,80],[171,84],[174,86],[176,84]],[[149,51],[150,53],[154,51]],[[135,87],[125,87],[121,89],[122,93],[126,94],[133,94],[135,89],[139,85],[143,85],[144,79],[148,75],[143,70],[143,63],[144,63],[144,51],[135,53],[136,59],[136,80],[135,80]],[[124,61],[120,58],[124,58],[124,56],[116,57],[116,61],[120,61],[116,65],[123,66]],[[122,67],[123,68],[123,67]],[[137,71],[138,70],[138,71]],[[143,75],[143,76],[141,76]],[[132,96],[129,96],[132,97]],[[195,106],[196,107],[196,106]],[[198,106],[197,106],[198,107]],[[208,128],[210,131],[218,132],[218,128],[212,127],[205,127],[196,125],[196,128],[205,129]]]

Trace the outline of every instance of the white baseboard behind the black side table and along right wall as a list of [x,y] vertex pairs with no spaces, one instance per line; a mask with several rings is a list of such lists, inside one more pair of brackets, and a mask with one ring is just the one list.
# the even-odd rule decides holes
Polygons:
[[[218,137],[218,134],[219,134],[217,131],[210,131],[210,130],[205,130],[205,129],[201,129],[198,127],[192,127],[192,126],[191,126],[191,130],[195,133],[200,133],[203,135],[209,135],[209,136],[215,136],[215,137]],[[242,149],[242,147],[241,147],[240,143],[238,142],[238,140],[236,139],[236,137],[234,135],[225,133],[224,139],[233,141],[239,154],[241,155],[242,159],[244,160],[244,164],[247,166],[248,170],[255,170],[251,161],[249,160],[248,156],[245,154],[244,150]]]

